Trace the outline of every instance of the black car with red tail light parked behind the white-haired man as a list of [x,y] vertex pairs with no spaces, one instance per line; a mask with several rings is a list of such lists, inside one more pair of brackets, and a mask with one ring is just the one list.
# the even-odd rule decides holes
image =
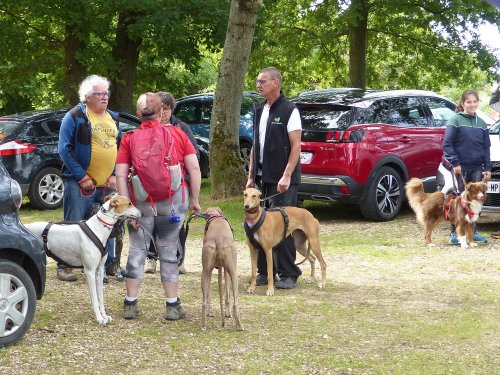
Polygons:
[[[0,159],[21,185],[33,207],[55,209],[62,205],[62,160],[57,152],[61,121],[68,109],[49,109],[0,117]],[[140,120],[119,112],[120,129],[137,128]],[[195,136],[196,137],[196,136]],[[196,137],[202,176],[208,175],[208,140]]]

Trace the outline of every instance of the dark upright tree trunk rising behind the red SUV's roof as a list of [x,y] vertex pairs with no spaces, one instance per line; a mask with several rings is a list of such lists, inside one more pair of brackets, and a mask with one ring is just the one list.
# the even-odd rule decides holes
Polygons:
[[350,6],[354,24],[349,26],[349,79],[351,87],[366,88],[366,49],[368,45],[368,6],[366,0],[353,0]]

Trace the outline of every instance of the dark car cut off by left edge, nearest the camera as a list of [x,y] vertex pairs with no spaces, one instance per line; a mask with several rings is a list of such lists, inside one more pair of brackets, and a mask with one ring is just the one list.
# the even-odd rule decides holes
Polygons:
[[30,328],[45,291],[45,252],[19,221],[22,193],[0,160],[0,347]]

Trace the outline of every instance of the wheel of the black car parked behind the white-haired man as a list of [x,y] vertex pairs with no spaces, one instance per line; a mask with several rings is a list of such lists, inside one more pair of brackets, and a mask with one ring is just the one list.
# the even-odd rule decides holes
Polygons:
[[57,168],[47,167],[33,178],[28,197],[35,208],[53,210],[62,205],[63,190],[61,172]]

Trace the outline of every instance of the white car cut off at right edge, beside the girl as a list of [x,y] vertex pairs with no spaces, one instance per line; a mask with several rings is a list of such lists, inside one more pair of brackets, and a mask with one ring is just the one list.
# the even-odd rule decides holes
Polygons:
[[488,181],[486,201],[483,205],[485,212],[500,212],[500,120],[490,126],[490,159],[493,164],[491,180]]

